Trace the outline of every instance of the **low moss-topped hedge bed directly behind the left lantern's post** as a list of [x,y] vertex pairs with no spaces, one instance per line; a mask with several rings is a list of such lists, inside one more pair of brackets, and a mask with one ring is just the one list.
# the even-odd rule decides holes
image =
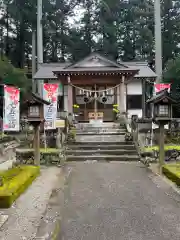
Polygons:
[[[40,149],[40,164],[55,165],[61,161],[62,151],[56,148]],[[17,149],[16,161],[19,164],[34,163],[34,149]]]

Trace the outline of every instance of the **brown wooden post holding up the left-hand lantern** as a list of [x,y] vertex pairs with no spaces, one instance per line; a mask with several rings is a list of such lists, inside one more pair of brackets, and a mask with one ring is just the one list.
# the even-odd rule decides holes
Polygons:
[[39,123],[34,125],[34,164],[40,166],[40,132]]

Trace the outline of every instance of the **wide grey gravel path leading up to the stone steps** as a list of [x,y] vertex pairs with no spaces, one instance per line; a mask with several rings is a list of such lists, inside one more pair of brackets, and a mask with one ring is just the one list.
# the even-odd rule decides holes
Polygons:
[[139,163],[72,167],[59,240],[180,239],[180,201]]

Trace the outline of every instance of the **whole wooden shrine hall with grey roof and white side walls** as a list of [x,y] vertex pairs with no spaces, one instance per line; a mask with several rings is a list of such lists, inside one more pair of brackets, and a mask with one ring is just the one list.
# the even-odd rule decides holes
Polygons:
[[[91,118],[114,121],[113,105],[127,115],[146,115],[146,90],[156,74],[146,62],[119,62],[97,53],[77,63],[45,63],[34,76],[37,83],[60,83],[58,111],[74,112],[79,106],[78,121]],[[42,85],[38,85],[41,94]]]

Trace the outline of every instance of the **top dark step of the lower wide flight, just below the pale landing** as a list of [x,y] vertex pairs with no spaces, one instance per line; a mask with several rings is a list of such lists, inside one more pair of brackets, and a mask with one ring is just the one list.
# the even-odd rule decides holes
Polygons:
[[119,142],[119,141],[76,141],[73,143],[73,145],[95,145],[95,146],[100,146],[100,145],[134,145],[134,143],[132,141],[129,142]]

